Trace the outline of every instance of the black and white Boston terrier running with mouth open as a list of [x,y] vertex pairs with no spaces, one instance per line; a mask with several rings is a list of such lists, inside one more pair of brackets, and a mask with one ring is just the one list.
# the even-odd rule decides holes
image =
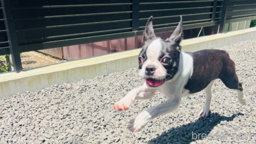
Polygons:
[[124,98],[114,104],[114,109],[129,109],[137,99],[151,99],[159,90],[167,100],[138,114],[127,128],[132,132],[141,130],[149,121],[162,114],[173,112],[181,103],[182,97],[206,92],[206,102],[198,116],[207,116],[212,98],[211,87],[220,78],[226,87],[237,90],[238,100],[244,105],[246,97],[236,75],[235,63],[224,50],[200,50],[195,53],[181,52],[182,17],[170,38],[156,37],[152,17],[144,32],[144,46],[140,51],[139,76],[145,84],[132,89]]

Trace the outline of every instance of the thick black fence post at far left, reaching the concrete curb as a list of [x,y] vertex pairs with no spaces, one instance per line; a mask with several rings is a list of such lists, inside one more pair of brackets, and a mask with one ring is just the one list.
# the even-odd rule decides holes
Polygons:
[[17,35],[15,31],[14,19],[12,17],[10,0],[1,0],[3,16],[5,21],[5,28],[8,37],[10,54],[12,59],[12,64],[15,72],[21,72],[21,59],[20,59],[20,51],[17,41]]

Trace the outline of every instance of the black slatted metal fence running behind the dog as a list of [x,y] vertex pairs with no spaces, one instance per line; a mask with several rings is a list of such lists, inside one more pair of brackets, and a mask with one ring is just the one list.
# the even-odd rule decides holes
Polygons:
[[0,55],[142,35],[153,16],[156,33],[256,19],[256,0],[1,0]]

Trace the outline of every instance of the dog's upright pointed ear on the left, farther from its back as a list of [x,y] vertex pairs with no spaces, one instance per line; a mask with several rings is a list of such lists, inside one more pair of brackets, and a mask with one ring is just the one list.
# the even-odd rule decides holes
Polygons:
[[148,22],[146,24],[146,28],[145,28],[144,35],[143,35],[144,42],[154,40],[156,38],[154,29],[153,29],[152,19],[153,19],[153,16],[151,16],[148,19]]

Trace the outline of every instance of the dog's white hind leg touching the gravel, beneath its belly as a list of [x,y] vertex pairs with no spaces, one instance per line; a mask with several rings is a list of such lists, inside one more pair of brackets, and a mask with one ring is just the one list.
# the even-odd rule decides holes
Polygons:
[[207,117],[210,111],[210,103],[212,99],[212,85],[214,83],[214,80],[206,87],[204,88],[204,92],[206,93],[206,102],[204,103],[204,106],[201,110],[201,112],[198,114],[198,117]]

